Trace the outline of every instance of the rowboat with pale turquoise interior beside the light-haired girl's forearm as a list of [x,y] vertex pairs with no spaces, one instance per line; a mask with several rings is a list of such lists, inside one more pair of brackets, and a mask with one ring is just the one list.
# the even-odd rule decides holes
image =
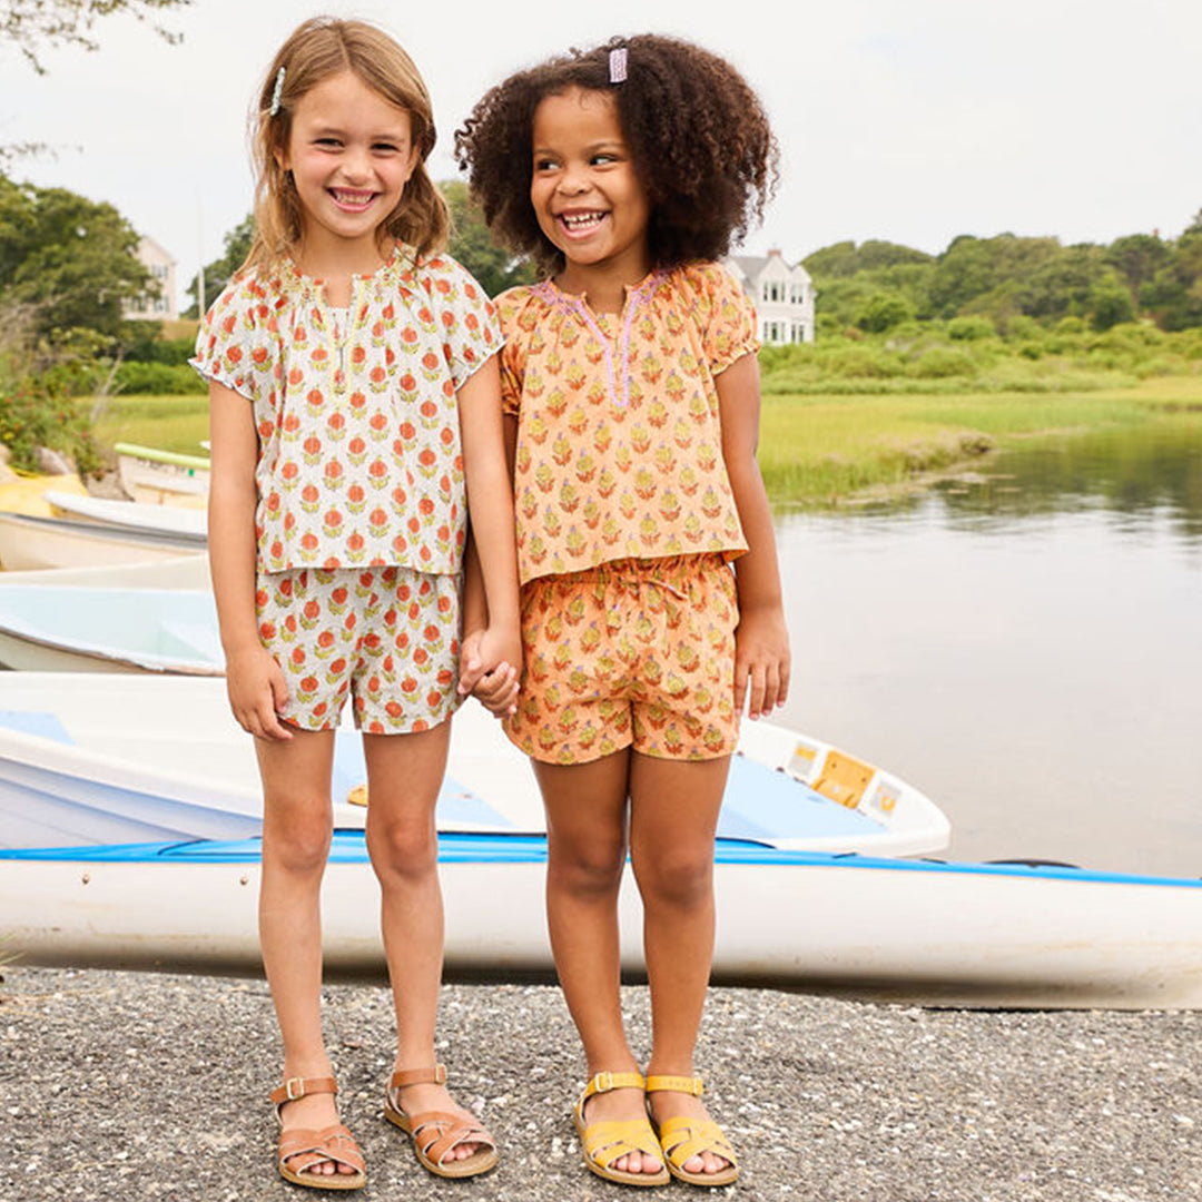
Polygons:
[[12,584],[0,576],[0,665],[222,676],[225,656],[208,589]]

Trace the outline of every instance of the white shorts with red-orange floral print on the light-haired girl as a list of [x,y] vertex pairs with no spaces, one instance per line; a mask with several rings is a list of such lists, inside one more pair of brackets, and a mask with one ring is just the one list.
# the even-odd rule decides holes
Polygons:
[[260,573],[258,637],[284,670],[280,716],[310,731],[407,734],[459,704],[459,578],[407,567]]

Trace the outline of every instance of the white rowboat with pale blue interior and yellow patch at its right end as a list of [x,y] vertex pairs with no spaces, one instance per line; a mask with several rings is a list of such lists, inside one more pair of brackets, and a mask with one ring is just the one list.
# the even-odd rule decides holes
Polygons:
[[[746,722],[721,833],[778,847],[909,855],[947,845],[918,790],[817,739]],[[254,740],[225,682],[180,676],[0,672],[0,845],[238,839],[262,825]],[[526,758],[475,702],[454,718],[453,813],[440,828],[541,834]],[[362,828],[362,740],[335,738],[335,825]],[[445,821],[444,821],[445,820]]]

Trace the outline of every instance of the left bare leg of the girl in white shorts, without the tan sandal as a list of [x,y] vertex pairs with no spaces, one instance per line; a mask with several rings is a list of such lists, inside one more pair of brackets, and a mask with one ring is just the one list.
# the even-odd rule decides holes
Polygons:
[[[333,1075],[321,1033],[321,877],[329,855],[332,731],[293,730],[284,742],[255,739],[263,780],[263,871],[258,938],[284,1042],[284,1076]],[[286,1102],[285,1130],[335,1123],[329,1094]],[[343,1172],[352,1172],[341,1166]],[[335,1172],[332,1161],[308,1172]]]

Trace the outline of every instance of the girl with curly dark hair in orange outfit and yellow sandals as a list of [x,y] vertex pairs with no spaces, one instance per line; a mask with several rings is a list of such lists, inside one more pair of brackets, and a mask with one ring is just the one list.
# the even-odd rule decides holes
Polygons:
[[[648,35],[510,77],[457,153],[494,233],[547,273],[498,302],[525,653],[505,725],[547,810],[548,926],[590,1073],[584,1161],[630,1185],[725,1185],[734,1152],[692,1064],[714,832],[744,707],[785,701],[789,641],[755,315],[716,260],[762,215],[775,143],[728,63]],[[488,703],[490,679],[470,684]],[[645,1077],[619,999],[627,851]]]

